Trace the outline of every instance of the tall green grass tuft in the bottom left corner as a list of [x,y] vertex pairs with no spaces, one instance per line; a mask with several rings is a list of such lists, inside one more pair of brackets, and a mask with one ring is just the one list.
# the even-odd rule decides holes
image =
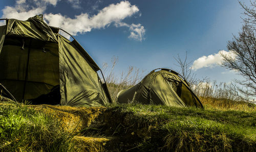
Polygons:
[[22,104],[0,103],[1,151],[72,151],[71,139],[52,117]]

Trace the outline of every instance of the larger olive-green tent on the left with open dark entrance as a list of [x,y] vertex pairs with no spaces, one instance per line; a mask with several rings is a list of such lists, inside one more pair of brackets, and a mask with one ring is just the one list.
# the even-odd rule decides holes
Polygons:
[[111,102],[97,73],[100,68],[72,36],[73,41],[61,36],[61,29],[48,26],[42,15],[5,20],[6,26],[0,27],[0,83],[18,101],[47,94],[59,85],[61,105]]

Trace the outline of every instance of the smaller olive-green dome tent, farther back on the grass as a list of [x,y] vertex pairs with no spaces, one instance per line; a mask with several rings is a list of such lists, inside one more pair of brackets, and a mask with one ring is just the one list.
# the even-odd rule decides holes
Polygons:
[[121,90],[118,92],[116,100],[118,103],[138,102],[203,108],[198,97],[189,88],[189,84],[181,79],[177,72],[164,68],[151,71],[134,87]]

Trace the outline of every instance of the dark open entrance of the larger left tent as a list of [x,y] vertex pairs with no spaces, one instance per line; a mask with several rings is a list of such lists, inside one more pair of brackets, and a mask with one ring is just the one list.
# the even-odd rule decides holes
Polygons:
[[19,100],[36,98],[59,85],[58,44],[6,36],[0,54],[0,83]]

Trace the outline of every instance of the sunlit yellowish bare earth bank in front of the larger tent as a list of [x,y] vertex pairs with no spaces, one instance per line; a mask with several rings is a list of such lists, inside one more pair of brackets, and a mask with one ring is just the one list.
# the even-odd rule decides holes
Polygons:
[[99,128],[104,125],[101,115],[106,110],[105,107],[76,108],[51,105],[33,105],[30,107],[58,119],[60,128],[70,133],[78,133],[88,127]]

